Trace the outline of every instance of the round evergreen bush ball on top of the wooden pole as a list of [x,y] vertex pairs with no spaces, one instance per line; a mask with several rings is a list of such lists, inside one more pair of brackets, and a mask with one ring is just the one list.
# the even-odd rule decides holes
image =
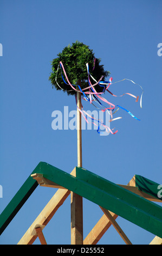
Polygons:
[[[80,81],[81,89],[89,86],[86,63],[89,65],[90,74],[92,74],[96,81],[99,81],[102,76],[102,81],[105,81],[105,78],[110,74],[109,71],[104,70],[103,65],[100,65],[101,59],[95,58],[93,50],[90,50],[89,46],[82,42],[76,41],[72,46],[68,45],[62,52],[57,54],[57,56],[58,57],[51,62],[52,72],[50,73],[49,81],[53,88],[55,87],[57,90],[62,89],[64,92],[67,92],[68,95],[75,95],[75,90],[73,90],[69,84],[66,84],[68,83],[66,77],[64,77],[63,72],[58,69],[60,62],[62,62],[66,70],[70,83],[76,86],[78,81]],[[66,83],[63,81],[62,76]],[[96,92],[103,92],[103,86],[101,87],[97,84],[95,90]]]

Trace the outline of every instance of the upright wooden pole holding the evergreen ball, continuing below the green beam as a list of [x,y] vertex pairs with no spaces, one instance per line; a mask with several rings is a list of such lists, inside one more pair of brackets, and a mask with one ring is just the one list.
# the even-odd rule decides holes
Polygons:
[[[79,86],[81,81],[77,82]],[[79,90],[79,88],[77,87]],[[81,109],[81,93],[77,92],[77,108]],[[77,109],[77,166],[82,167],[81,113]],[[76,176],[75,174],[73,174]],[[82,197],[71,192],[71,244],[83,245],[83,202]]]

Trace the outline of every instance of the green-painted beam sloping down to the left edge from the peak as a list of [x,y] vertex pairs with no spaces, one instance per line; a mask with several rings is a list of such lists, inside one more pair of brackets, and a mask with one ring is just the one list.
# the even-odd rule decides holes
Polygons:
[[[40,163],[31,174],[35,172],[40,172]],[[22,208],[23,204],[31,196],[37,186],[37,181],[29,176],[21,186],[20,190],[18,190],[15,196],[11,199],[10,203],[6,206],[0,215],[0,235],[3,233],[5,228],[7,228],[8,224],[12,221],[17,212]]]

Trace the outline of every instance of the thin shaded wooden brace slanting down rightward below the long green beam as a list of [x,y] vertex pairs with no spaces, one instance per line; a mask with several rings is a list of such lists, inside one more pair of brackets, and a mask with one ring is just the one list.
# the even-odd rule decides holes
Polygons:
[[124,231],[122,231],[122,229],[120,228],[120,226],[118,225],[118,223],[114,220],[113,216],[111,215],[111,213],[106,210],[105,208],[101,207],[101,210],[104,212],[104,214],[106,215],[106,217],[108,218],[108,220],[112,223],[112,225],[114,226],[114,228],[116,229],[116,231],[119,233],[119,235],[121,236],[121,238],[125,241],[125,243],[127,245],[132,245],[131,241],[128,239],[128,237],[126,236],[126,234],[124,233]]

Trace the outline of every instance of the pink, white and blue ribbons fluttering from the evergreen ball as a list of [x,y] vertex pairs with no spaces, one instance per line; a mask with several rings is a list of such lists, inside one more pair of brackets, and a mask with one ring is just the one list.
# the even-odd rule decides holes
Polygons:
[[[114,95],[110,90],[108,90],[108,88],[109,88],[109,86],[111,86],[111,84],[114,84],[114,83],[117,83],[117,82],[121,82],[121,81],[124,81],[124,80],[131,81],[132,83],[134,83],[134,82],[133,82],[132,80],[129,80],[129,79],[125,78],[125,79],[123,79],[123,80],[120,80],[120,81],[117,81],[117,82],[112,83],[112,80],[113,80],[112,77],[109,79],[109,81],[102,81],[103,76],[100,78],[99,81],[96,81],[95,78],[94,78],[94,77],[90,74],[90,72],[89,72],[89,65],[88,65],[88,63],[86,64],[86,66],[87,66],[87,75],[88,75],[88,84],[89,84],[88,87],[81,89],[81,87],[80,87],[79,85],[71,84],[71,83],[69,82],[69,80],[68,80],[68,77],[67,77],[67,74],[66,74],[66,71],[65,71],[65,69],[64,69],[64,66],[63,66],[62,62],[60,62],[59,65],[58,65],[58,68],[57,68],[57,71],[56,71],[56,78],[55,78],[55,81],[56,81],[56,83],[57,83],[57,74],[58,74],[58,72],[59,72],[59,68],[61,68],[62,80],[63,80],[63,82],[64,82],[65,84],[69,85],[69,86],[72,88],[72,90],[64,90],[64,89],[62,89],[62,88],[60,87],[59,83],[57,83],[57,86],[59,86],[62,90],[66,91],[66,92],[71,92],[71,91],[75,90],[75,92],[82,93],[83,99],[85,99],[86,101],[89,101],[90,103],[92,103],[92,101],[95,101],[96,103],[98,103],[98,104],[102,107],[102,112],[107,111],[107,112],[111,115],[110,122],[122,118],[122,117],[113,118],[113,114],[115,114],[115,113],[119,110],[119,108],[123,109],[123,110],[126,111],[128,114],[130,114],[133,118],[135,118],[135,119],[137,119],[137,120],[140,121],[140,119],[138,119],[137,117],[135,117],[135,116],[134,116],[130,111],[128,111],[126,108],[121,107],[121,106],[119,106],[119,105],[116,105],[116,106],[115,106],[113,103],[107,101],[104,97],[102,97],[102,94],[107,91],[108,93],[110,93],[111,95],[113,95],[113,96],[115,96],[115,97],[121,97],[121,96],[124,96],[125,94],[127,94],[127,95],[129,95],[129,96],[134,97],[134,98],[136,99],[135,102],[138,102],[139,96],[135,96],[135,95],[133,95],[133,94],[131,94],[131,93],[124,93],[124,94],[122,94],[122,95],[117,96],[117,95]],[[94,59],[93,70],[94,70],[94,68],[95,68],[95,59]],[[64,77],[63,77],[63,74],[62,74],[62,70],[63,70],[63,74],[64,74],[64,76],[66,77],[66,80],[67,80],[68,83],[64,80]],[[91,83],[90,78],[92,78],[92,80],[95,82],[94,84]],[[134,84],[135,84],[135,85],[138,85],[138,86],[142,89],[142,87],[141,87],[139,84],[137,84],[137,83],[134,83]],[[103,91],[100,92],[100,93],[96,92],[96,90],[95,90],[95,88],[94,88],[96,85],[99,85],[100,87],[103,87]],[[106,87],[106,86],[107,86],[107,87]],[[79,90],[76,89],[76,87],[78,87]],[[87,91],[87,89],[88,89],[88,91]],[[85,92],[85,91],[86,91],[86,92]],[[143,94],[143,92],[144,92],[144,91],[143,91],[143,89],[142,89],[142,94]],[[142,103],[141,103],[141,102],[142,102],[142,94],[141,94],[141,97],[140,97],[140,107],[141,107],[141,108],[142,108]],[[100,102],[99,99],[100,99],[101,101],[107,103],[107,104],[109,105],[109,107],[104,106],[104,105]],[[94,103],[92,103],[92,105],[95,106]],[[77,103],[76,103],[76,106],[77,106]],[[96,107],[96,106],[95,106],[95,107]],[[114,111],[115,107],[118,107],[118,108],[116,109],[116,111]],[[96,107],[96,108],[98,108],[98,107]],[[103,127],[105,127],[105,129],[106,129],[107,132],[111,132],[112,134],[115,134],[116,132],[118,132],[118,131],[112,132],[113,129],[111,130],[108,126],[104,125],[102,121],[97,120],[97,119],[91,117],[86,111],[83,110],[83,106],[81,107],[81,109],[78,108],[78,107],[77,107],[77,109],[79,109],[80,113],[82,114],[83,118],[85,118],[85,120],[86,120],[87,123],[88,123],[87,118],[90,118],[91,120],[94,120],[94,121],[98,122],[98,130],[97,130],[97,131],[98,131],[99,134],[102,133],[102,132],[99,131],[101,125],[102,125]],[[114,112],[113,112],[113,111],[114,111]],[[112,112],[113,112],[113,113],[112,113]],[[87,116],[87,118],[86,118],[86,116]],[[96,125],[95,123],[93,123],[93,124]]]

